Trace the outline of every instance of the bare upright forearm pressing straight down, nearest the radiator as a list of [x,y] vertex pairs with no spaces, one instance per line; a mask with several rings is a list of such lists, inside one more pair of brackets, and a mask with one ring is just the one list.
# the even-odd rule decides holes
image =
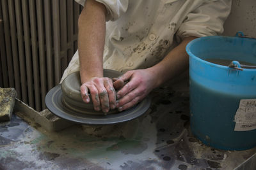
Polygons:
[[106,32],[106,8],[87,0],[78,20],[78,52],[81,83],[103,76],[103,50]]

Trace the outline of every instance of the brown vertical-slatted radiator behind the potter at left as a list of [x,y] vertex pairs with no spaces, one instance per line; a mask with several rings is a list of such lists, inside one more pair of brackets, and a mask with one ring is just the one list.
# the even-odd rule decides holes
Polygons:
[[0,87],[37,111],[77,50],[81,6],[73,0],[1,0]]

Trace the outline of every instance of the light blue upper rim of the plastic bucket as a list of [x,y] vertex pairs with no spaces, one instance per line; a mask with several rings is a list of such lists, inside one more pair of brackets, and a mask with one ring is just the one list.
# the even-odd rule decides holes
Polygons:
[[[212,62],[209,62],[207,60],[203,60],[203,59],[200,59],[199,57],[196,57],[190,50],[191,46],[196,43],[197,41],[200,41],[202,39],[214,39],[214,38],[230,38],[230,39],[237,39],[237,38],[241,38],[241,37],[238,37],[238,36],[204,36],[204,37],[199,37],[199,38],[196,38],[196,39],[193,39],[192,41],[190,41],[188,43],[188,45],[186,45],[186,52],[188,53],[189,57],[192,57],[193,59],[195,60],[198,60],[199,62],[203,62],[204,64],[208,64],[209,66],[213,66],[213,67],[219,67],[220,69],[232,69],[228,66],[222,66],[220,64],[214,64]],[[243,38],[244,39],[244,38]],[[246,39],[249,39],[249,38],[246,38]],[[251,40],[251,38],[250,38]],[[252,38],[252,40],[254,41],[255,39]],[[190,66],[190,65],[189,65]],[[256,71],[256,69],[248,69],[248,68],[243,68],[243,71]]]

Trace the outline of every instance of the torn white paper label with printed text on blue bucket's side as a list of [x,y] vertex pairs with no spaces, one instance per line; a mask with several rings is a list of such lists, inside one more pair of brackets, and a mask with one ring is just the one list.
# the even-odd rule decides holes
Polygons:
[[241,99],[236,111],[234,131],[252,131],[256,129],[256,99]]

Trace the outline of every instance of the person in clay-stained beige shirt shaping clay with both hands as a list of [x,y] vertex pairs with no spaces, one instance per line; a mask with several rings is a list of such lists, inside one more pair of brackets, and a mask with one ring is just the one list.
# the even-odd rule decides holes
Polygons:
[[[231,4],[231,0],[77,2],[84,6],[78,52],[62,80],[80,71],[84,103],[92,100],[93,108],[105,113],[131,108],[188,69],[186,45],[198,37],[221,34]],[[116,95],[103,68],[124,73],[116,81],[127,83]]]

